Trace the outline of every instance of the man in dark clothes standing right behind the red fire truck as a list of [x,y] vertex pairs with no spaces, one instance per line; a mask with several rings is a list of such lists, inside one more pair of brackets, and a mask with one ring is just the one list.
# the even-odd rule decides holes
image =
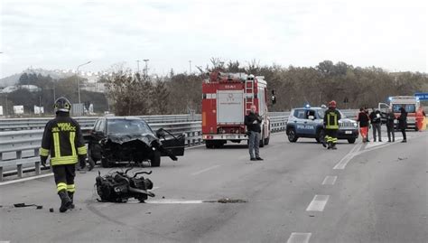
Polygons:
[[247,126],[248,133],[248,150],[251,161],[263,160],[259,154],[260,133],[262,131],[260,128],[261,123],[262,117],[256,113],[256,106],[252,105],[250,113],[245,117],[245,125]]

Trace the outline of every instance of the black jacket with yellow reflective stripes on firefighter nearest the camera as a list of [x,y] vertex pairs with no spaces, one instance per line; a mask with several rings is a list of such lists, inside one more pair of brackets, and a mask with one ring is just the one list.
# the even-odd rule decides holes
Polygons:
[[68,114],[59,113],[44,128],[40,155],[51,154],[51,165],[76,164],[86,158],[87,148],[79,123]]

